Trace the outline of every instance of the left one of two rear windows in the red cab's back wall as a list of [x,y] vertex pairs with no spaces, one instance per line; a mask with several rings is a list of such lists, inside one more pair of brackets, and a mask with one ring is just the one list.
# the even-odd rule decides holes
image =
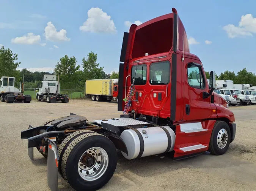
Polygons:
[[132,77],[131,77],[131,83],[134,85],[145,85],[147,81],[147,65],[141,64],[141,65],[135,65],[132,66]]

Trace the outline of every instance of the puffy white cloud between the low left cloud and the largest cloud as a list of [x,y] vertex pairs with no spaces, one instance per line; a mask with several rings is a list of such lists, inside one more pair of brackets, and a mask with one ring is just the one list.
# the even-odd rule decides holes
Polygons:
[[67,37],[67,31],[61,29],[59,32],[52,24],[52,22],[48,22],[46,28],[44,29],[44,35],[46,40],[50,40],[52,42],[59,42],[59,41],[69,41],[70,38]]

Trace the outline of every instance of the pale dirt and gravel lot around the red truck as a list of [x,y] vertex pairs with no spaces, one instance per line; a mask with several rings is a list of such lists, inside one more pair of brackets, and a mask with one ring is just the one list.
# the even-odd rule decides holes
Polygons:
[[[27,154],[27,140],[20,131],[28,125],[69,115],[88,120],[119,117],[116,103],[70,100],[69,103],[32,101],[6,104],[0,102],[0,190],[47,191],[47,159],[34,150],[34,161]],[[208,152],[189,159],[173,161],[168,154],[126,160],[119,153],[112,179],[102,191],[208,191],[256,190],[256,105],[230,108],[236,117],[237,132],[226,154]],[[61,177],[58,190],[73,190]]]

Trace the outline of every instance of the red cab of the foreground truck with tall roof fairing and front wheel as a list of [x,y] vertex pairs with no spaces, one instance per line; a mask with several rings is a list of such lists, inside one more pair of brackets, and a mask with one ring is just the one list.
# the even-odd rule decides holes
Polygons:
[[[172,126],[174,158],[212,151],[223,154],[236,134],[226,100],[213,92],[201,60],[190,53],[175,8],[124,33],[119,66],[118,111],[138,120]],[[219,141],[221,140],[221,141]]]

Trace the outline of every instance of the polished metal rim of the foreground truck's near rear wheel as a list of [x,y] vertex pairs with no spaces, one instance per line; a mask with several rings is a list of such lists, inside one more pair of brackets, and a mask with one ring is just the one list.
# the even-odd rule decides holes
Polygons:
[[86,181],[99,179],[108,167],[108,154],[100,147],[93,147],[85,151],[78,162],[80,177]]

